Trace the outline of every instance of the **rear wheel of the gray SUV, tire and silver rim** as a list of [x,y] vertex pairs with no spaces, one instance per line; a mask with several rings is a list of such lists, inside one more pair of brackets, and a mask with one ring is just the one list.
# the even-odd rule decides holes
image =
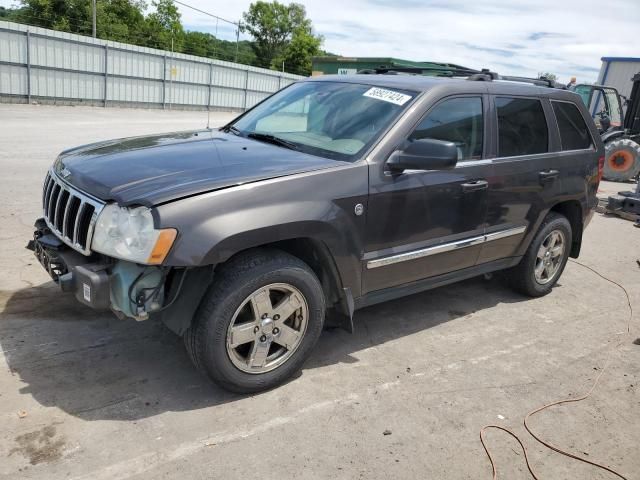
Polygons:
[[[562,253],[557,257],[551,252],[549,246],[552,235],[559,235],[563,242]],[[514,290],[530,297],[542,297],[551,291],[556,284],[564,267],[569,259],[571,251],[571,224],[563,215],[555,212],[549,213],[536,233],[533,241],[529,245],[527,252],[518,265],[508,272],[508,280]],[[556,239],[557,241],[557,239]],[[544,246],[543,246],[544,244]],[[555,245],[552,245],[555,248]],[[543,255],[541,260],[539,254],[549,251],[549,255]],[[557,250],[556,250],[557,252]],[[549,270],[547,270],[544,261],[550,261]],[[542,278],[536,273],[536,268],[543,267]],[[540,272],[540,270],[538,270]],[[551,274],[551,271],[553,272]],[[545,275],[546,278],[545,278]]]

